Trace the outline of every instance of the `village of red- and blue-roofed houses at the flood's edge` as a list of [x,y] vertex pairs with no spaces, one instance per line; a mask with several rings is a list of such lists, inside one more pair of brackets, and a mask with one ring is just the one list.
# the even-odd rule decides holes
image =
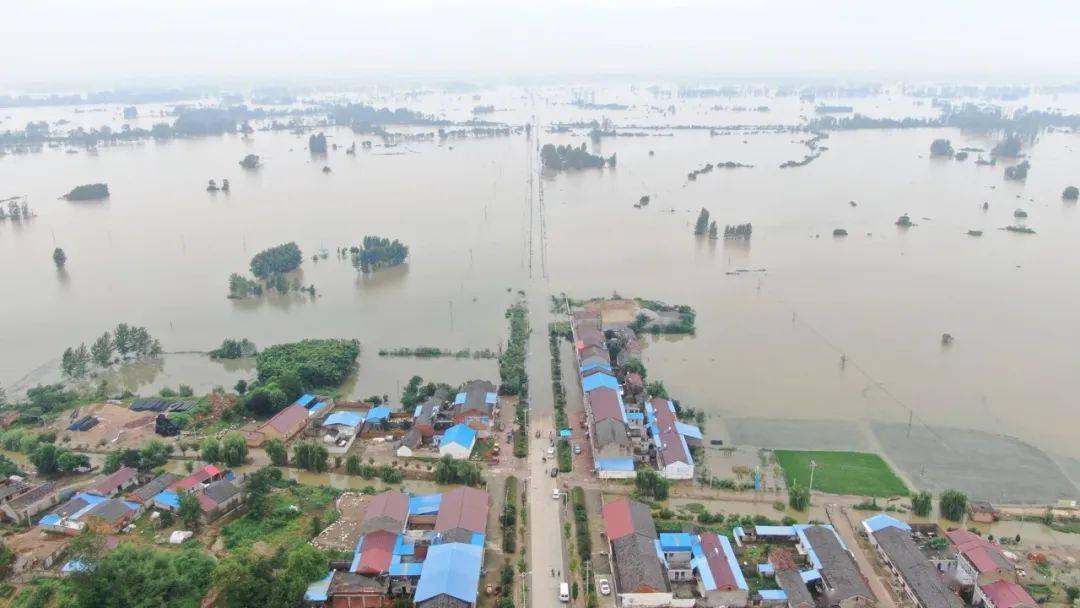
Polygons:
[[[41,581],[93,577],[96,560],[124,545],[229,559],[300,543],[324,566],[296,597],[309,606],[1035,608],[1075,599],[1080,544],[1047,550],[1038,540],[1075,505],[1025,522],[1024,510],[966,500],[959,517],[932,519],[906,494],[786,487],[785,475],[767,482],[775,475],[743,464],[723,475],[706,462],[724,446],[707,438],[704,418],[640,361],[640,332],[692,326],[692,311],[616,305],[564,300],[548,332],[512,325],[511,341],[527,336],[528,371],[541,377],[526,394],[488,379],[417,378],[407,403],[310,392],[269,418],[229,424],[215,420],[235,395],[76,408],[44,431],[60,446],[54,456],[73,455],[70,471],[27,463],[0,484],[9,584],[21,590],[13,597]],[[213,434],[181,429],[192,416],[214,421],[204,427]],[[0,422],[29,436],[16,413]],[[816,458],[826,484],[834,456]],[[100,553],[79,549],[89,536]]]

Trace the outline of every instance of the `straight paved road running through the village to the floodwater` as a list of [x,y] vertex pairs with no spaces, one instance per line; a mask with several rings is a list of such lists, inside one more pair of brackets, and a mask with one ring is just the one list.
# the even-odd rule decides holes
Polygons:
[[[551,391],[551,355],[548,349],[550,300],[542,288],[532,289],[529,299],[529,352],[526,370],[529,376],[529,554],[532,568],[529,604],[545,608],[559,606],[558,583],[564,578],[552,577],[552,570],[567,575],[563,555],[563,525],[559,521],[562,500],[552,498],[557,477],[549,475],[555,465],[548,454],[549,436],[555,431],[555,405]],[[536,431],[540,437],[536,437]]]

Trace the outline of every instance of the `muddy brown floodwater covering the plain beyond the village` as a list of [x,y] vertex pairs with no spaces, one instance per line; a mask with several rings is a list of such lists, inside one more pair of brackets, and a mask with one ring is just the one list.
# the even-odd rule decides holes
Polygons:
[[[643,95],[624,97],[636,103]],[[662,99],[652,104],[678,110],[635,105],[625,116],[559,100],[566,95],[500,90],[480,100],[387,103],[462,119],[468,108],[490,102],[500,108],[490,120],[519,123],[536,114],[541,124],[603,117],[617,124],[767,124],[812,117],[812,106],[797,98],[766,99],[771,111],[760,113],[708,109],[740,100]],[[848,103],[874,116],[931,112],[929,103],[895,94]],[[15,113],[0,129],[32,112]],[[524,135],[376,145],[353,157],[343,148],[366,136],[332,129],[330,143],[342,149],[325,159],[307,152],[306,134],[285,132],[0,158],[0,195],[26,194],[38,213],[30,221],[0,224],[0,255],[10,260],[0,383],[11,392],[55,378],[65,347],[129,322],[147,326],[166,351],[205,351],[225,337],[260,347],[355,337],[364,352],[348,392],[394,397],[414,374],[448,382],[495,379],[497,366],[382,359],[379,348],[497,349],[507,334],[503,311],[517,289],[528,292],[534,307],[546,294],[617,292],[698,311],[696,337],[648,339],[645,362],[650,378],[663,379],[674,397],[710,413],[711,432],[723,433],[725,418],[862,425],[910,419],[1013,435],[1080,457],[1072,398],[1080,392],[1080,216],[1061,200],[1066,186],[1080,185],[1076,134],[1041,135],[1026,150],[1032,164],[1026,183],[1003,180],[1001,163],[929,158],[936,137],[956,148],[988,149],[995,140],[955,130],[832,133],[820,159],[787,170],[778,166],[807,153],[800,141],[808,135],[649,134],[590,143],[599,153],[618,154],[615,170],[543,174],[537,180],[543,205],[537,200],[531,214],[535,141]],[[539,137],[541,144],[588,140],[580,132]],[[247,153],[262,157],[265,166],[240,170]],[[687,181],[689,171],[718,161],[755,166]],[[323,173],[324,165],[332,172]],[[229,178],[232,191],[205,192],[210,178]],[[90,181],[107,181],[110,199],[56,200]],[[651,202],[635,210],[643,194]],[[694,238],[702,206],[721,225],[752,221],[751,242]],[[1036,234],[998,230],[1014,222],[1016,208],[1029,213],[1025,224]],[[894,226],[903,213],[917,226]],[[849,235],[833,238],[835,228]],[[969,229],[984,234],[968,237]],[[365,234],[402,239],[410,246],[407,266],[363,276],[334,255]],[[306,255],[299,279],[315,286],[315,298],[226,298],[231,272],[287,241]],[[63,272],[51,259],[55,246],[67,252]],[[322,248],[328,259],[312,261]],[[750,272],[735,272],[741,269]],[[955,337],[951,346],[942,346],[943,333]],[[534,355],[546,359],[546,349]],[[187,354],[148,367],[145,378],[130,382],[144,393],[180,382],[231,386],[254,375],[249,366]]]

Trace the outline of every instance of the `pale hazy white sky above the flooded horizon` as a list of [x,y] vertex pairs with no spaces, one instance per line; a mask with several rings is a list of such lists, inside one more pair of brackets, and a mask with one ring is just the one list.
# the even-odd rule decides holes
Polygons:
[[0,86],[639,73],[1080,79],[1080,2],[44,0]]

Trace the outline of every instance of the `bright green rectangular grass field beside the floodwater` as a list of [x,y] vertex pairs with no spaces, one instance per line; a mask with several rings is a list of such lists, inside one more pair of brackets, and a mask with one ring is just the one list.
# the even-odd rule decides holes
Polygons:
[[829,494],[907,496],[907,487],[876,454],[859,451],[774,450],[787,486],[810,485],[810,461],[818,463],[813,489]]

